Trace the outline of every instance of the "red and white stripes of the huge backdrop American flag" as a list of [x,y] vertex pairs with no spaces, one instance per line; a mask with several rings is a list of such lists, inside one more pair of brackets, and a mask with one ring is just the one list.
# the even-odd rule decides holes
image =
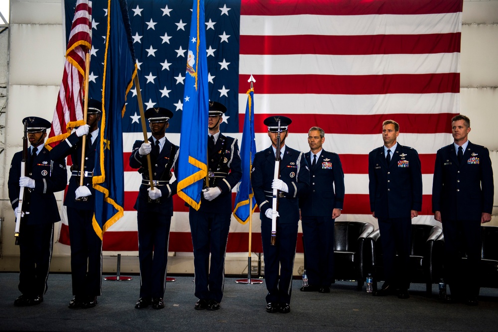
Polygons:
[[[270,144],[262,121],[271,114],[293,120],[286,144],[301,151],[309,150],[308,129],[322,127],[324,148],[339,153],[345,172],[339,220],[375,223],[368,154],[382,145],[382,121],[393,119],[400,124],[398,142],[415,148],[422,163],[422,213],[414,222],[435,223],[435,154],[451,142],[450,120],[460,111],[461,25],[462,0],[242,0],[240,131],[252,74],[257,150]],[[167,136],[180,141],[179,134]],[[242,138],[241,133],[232,136]],[[125,165],[140,137],[124,134]],[[125,213],[106,232],[106,250],[137,250],[132,207],[140,181],[125,167]],[[257,210],[253,221],[252,251],[257,252]],[[233,219],[227,250],[245,252],[247,243],[248,226]],[[188,212],[177,197],[170,250],[191,250]]]

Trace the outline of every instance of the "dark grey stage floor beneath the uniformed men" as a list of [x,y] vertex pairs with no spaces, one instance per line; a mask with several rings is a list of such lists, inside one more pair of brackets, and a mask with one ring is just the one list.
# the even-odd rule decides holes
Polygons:
[[[412,284],[410,299],[373,297],[356,290],[356,283],[338,281],[330,294],[303,293],[294,280],[289,314],[265,312],[263,284],[237,284],[225,279],[218,311],[196,311],[192,276],[168,282],[165,308],[134,309],[139,278],[103,281],[103,295],[91,309],[67,308],[71,294],[69,274],[51,274],[44,302],[17,308],[17,273],[0,273],[1,331],[498,331],[498,289],[481,289],[479,306],[438,302],[425,285]],[[380,287],[380,285],[379,285]]]

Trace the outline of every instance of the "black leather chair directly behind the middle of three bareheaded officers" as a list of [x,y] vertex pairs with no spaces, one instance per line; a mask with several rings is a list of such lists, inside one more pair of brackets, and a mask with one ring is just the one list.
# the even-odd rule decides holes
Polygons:
[[[427,295],[430,295],[432,284],[438,283],[441,275],[440,255],[437,255],[438,250],[434,244],[443,230],[437,225],[412,224],[411,232],[410,282],[425,283]],[[373,291],[376,291],[377,281],[384,280],[382,245],[378,229],[365,240],[363,262],[364,276],[372,274]]]

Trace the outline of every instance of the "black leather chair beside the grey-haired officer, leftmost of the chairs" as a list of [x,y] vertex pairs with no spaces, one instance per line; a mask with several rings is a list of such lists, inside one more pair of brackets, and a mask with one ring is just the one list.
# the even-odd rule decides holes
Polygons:
[[357,280],[358,290],[364,283],[363,246],[374,230],[365,221],[335,221],[334,275],[336,280]]

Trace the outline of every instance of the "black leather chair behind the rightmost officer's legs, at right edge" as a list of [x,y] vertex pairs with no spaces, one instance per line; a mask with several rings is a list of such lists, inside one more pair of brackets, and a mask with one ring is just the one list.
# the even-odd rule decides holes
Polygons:
[[[437,249],[441,255],[439,267],[443,268],[444,255],[444,236],[438,238]],[[466,266],[466,254],[463,253],[462,270]],[[498,227],[496,226],[481,226],[481,265],[479,271],[476,271],[481,276],[480,286],[498,288]],[[442,271],[439,272],[439,277],[442,277]]]

